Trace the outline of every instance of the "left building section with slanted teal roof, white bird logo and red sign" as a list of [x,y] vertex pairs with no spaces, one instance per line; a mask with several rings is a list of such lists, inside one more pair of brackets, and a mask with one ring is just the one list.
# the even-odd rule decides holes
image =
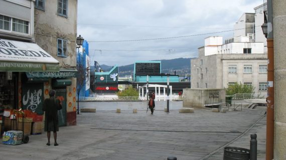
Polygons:
[[115,93],[118,90],[118,65],[106,72],[94,72],[96,93]]

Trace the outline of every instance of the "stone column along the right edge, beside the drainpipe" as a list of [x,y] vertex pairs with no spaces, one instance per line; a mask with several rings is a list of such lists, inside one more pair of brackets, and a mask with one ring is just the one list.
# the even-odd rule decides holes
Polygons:
[[[286,159],[286,3],[273,0],[274,159]],[[269,26],[269,25],[268,25]]]

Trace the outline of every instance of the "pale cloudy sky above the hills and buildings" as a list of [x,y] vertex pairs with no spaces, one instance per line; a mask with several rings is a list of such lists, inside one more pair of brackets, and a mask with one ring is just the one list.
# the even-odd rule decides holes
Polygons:
[[[136,60],[197,57],[204,38],[233,35],[244,12],[263,0],[78,0],[77,32],[91,61],[127,65]],[[210,34],[208,34],[210,33]]]

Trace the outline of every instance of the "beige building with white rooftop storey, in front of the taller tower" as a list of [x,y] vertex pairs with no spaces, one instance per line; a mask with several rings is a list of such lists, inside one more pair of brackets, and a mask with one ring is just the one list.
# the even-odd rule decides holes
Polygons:
[[222,44],[222,36],[210,36],[191,59],[192,88],[226,88],[228,84],[253,85],[255,93],[267,90],[267,54],[263,42],[250,42],[246,36]]

